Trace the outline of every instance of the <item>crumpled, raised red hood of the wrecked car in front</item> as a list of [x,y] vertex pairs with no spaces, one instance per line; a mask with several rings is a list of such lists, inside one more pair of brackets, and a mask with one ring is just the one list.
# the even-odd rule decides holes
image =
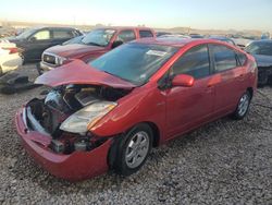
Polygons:
[[98,71],[81,60],[51,70],[36,79],[35,84],[51,87],[69,84],[104,85],[113,88],[131,89],[136,85],[111,74]]

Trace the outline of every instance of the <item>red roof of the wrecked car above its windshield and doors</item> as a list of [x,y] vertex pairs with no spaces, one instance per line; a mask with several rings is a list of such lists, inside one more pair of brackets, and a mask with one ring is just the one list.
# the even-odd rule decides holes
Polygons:
[[178,38],[178,37],[169,37],[169,38],[141,38],[138,40],[134,40],[133,43],[140,44],[152,44],[152,45],[162,45],[162,46],[173,46],[173,47],[183,47],[188,44],[222,44],[222,41],[218,41],[214,39],[206,39],[206,38]]

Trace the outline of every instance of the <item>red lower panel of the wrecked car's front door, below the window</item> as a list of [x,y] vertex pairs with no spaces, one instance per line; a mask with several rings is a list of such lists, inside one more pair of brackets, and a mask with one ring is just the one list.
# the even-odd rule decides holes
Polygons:
[[165,92],[168,135],[183,133],[187,126],[212,114],[214,88],[209,87],[209,82],[210,77],[205,77],[195,81],[193,87],[173,87]]

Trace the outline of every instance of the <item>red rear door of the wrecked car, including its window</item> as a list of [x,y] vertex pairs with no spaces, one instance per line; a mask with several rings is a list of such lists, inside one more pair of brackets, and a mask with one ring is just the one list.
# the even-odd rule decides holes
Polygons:
[[214,111],[224,114],[234,110],[245,92],[246,68],[240,65],[237,52],[223,45],[209,45],[214,63],[211,86],[215,88]]

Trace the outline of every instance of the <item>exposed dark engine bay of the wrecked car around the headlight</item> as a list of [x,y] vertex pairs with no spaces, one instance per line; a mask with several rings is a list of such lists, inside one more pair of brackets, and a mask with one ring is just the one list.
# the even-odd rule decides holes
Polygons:
[[[69,154],[74,150],[90,150],[102,142],[95,140],[89,132],[73,133],[60,129],[60,126],[78,111],[92,105],[116,104],[118,99],[129,92],[95,85],[54,87],[45,98],[35,98],[26,105],[27,123],[30,129],[52,137],[51,148],[55,153]],[[92,108],[92,112],[96,111],[96,107]],[[86,119],[83,118],[83,120]]]

